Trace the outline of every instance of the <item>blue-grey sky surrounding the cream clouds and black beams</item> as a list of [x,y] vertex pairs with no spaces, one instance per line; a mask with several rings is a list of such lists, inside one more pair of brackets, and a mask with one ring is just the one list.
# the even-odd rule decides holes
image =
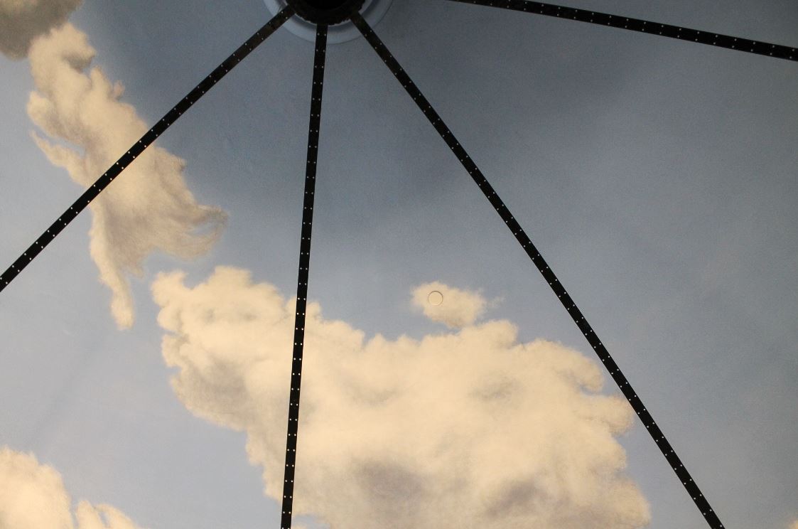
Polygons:
[[[798,43],[791,2],[574,5]],[[120,101],[152,124],[269,16],[256,0],[235,9],[85,2],[69,22],[97,50],[93,65],[124,84]],[[567,286],[726,527],[798,519],[796,65],[442,0],[394,2],[377,31]],[[247,435],[192,414],[199,401],[170,387],[179,368],[164,365],[151,285],[179,269],[193,287],[221,265],[293,294],[312,60],[310,42],[280,30],[158,141],[186,160],[196,203],[221,208],[227,224],[197,259],[148,255],[131,282],[129,330],[118,329],[97,281],[89,211],[2,292],[0,445],[51,465],[74,499],[109,503],[141,527],[276,525]],[[30,61],[0,57],[0,70],[0,258],[11,263],[81,188],[31,138],[44,134],[26,111]],[[411,303],[413,289],[440,281],[480,292],[480,321],[513,322],[519,342],[590,354],[362,39],[328,51],[316,203],[310,298],[325,318],[389,341],[452,333]],[[618,393],[605,378],[603,393]],[[649,527],[704,527],[642,429],[617,439]],[[507,449],[525,448],[508,439]]]

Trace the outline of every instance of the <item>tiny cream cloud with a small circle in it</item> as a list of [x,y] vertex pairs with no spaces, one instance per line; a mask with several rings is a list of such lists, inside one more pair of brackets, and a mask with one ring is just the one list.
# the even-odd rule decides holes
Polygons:
[[485,311],[484,298],[468,290],[460,290],[442,282],[429,282],[413,290],[413,305],[424,315],[449,327],[464,327],[476,322]]

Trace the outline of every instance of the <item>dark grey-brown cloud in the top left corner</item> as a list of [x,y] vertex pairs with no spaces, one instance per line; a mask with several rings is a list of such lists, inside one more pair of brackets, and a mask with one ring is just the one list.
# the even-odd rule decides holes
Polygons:
[[0,53],[25,57],[30,43],[61,26],[81,0],[0,0]]

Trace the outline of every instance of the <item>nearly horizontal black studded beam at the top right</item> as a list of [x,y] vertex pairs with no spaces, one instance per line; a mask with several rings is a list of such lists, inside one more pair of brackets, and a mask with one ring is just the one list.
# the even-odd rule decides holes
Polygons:
[[599,26],[611,26],[622,30],[639,31],[652,35],[662,35],[662,37],[678,38],[681,41],[699,42],[720,48],[736,49],[747,53],[757,53],[768,57],[786,59],[788,61],[798,61],[798,51],[796,48],[768,42],[752,41],[747,38],[730,37],[713,33],[711,31],[691,30],[670,24],[660,24],[659,22],[649,22],[639,18],[619,17],[614,14],[599,13],[598,11],[580,10],[574,7],[556,6],[555,4],[544,4],[543,2],[530,2],[529,0],[449,0],[450,2],[460,2],[464,4],[475,4],[479,6],[499,7],[505,10],[523,11],[524,13],[544,14],[547,17],[569,18],[598,24]]

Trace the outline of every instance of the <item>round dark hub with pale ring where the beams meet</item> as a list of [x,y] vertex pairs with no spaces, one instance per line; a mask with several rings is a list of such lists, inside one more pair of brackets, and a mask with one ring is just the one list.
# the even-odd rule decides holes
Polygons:
[[[291,4],[297,16],[291,17],[282,27],[306,41],[316,40],[316,24],[326,24],[327,44],[351,41],[361,36],[358,28],[347,18],[357,9],[361,16],[375,27],[381,21],[393,0],[263,0],[271,14],[277,14]],[[344,11],[342,15],[338,10]],[[338,20],[338,22],[324,22]],[[317,21],[317,22],[314,22]]]

